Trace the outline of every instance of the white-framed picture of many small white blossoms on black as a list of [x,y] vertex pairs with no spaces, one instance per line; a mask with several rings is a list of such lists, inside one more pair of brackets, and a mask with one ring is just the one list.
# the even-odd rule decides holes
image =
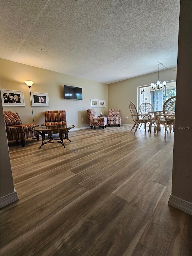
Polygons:
[[1,99],[3,106],[25,106],[23,92],[1,90]]

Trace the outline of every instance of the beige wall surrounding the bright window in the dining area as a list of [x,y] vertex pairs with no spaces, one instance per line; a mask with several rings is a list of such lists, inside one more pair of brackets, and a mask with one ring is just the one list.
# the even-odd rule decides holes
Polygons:
[[[173,70],[176,70],[176,68],[173,68]],[[159,78],[161,81],[176,80],[176,72],[168,69],[160,71]],[[129,102],[132,101],[137,106],[137,87],[150,85],[152,82],[157,81],[157,79],[158,72],[155,72],[108,85],[109,108],[120,109],[122,124],[134,123],[129,110]],[[126,119],[126,116],[128,116],[128,119]]]

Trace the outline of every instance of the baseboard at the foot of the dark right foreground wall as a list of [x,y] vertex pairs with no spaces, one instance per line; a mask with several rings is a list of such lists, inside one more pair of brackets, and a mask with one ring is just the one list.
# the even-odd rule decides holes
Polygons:
[[170,195],[168,205],[192,215],[192,203],[187,202],[181,198]]

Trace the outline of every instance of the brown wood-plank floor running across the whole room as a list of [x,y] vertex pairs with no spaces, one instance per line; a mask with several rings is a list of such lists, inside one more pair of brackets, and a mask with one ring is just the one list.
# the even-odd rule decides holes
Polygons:
[[191,256],[192,216],[167,205],[174,135],[130,130],[10,142],[19,201],[1,210],[1,256]]

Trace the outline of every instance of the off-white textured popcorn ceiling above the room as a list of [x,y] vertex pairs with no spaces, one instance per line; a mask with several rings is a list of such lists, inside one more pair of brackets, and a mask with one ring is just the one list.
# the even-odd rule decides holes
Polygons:
[[2,59],[107,84],[177,66],[179,0],[0,5]]

